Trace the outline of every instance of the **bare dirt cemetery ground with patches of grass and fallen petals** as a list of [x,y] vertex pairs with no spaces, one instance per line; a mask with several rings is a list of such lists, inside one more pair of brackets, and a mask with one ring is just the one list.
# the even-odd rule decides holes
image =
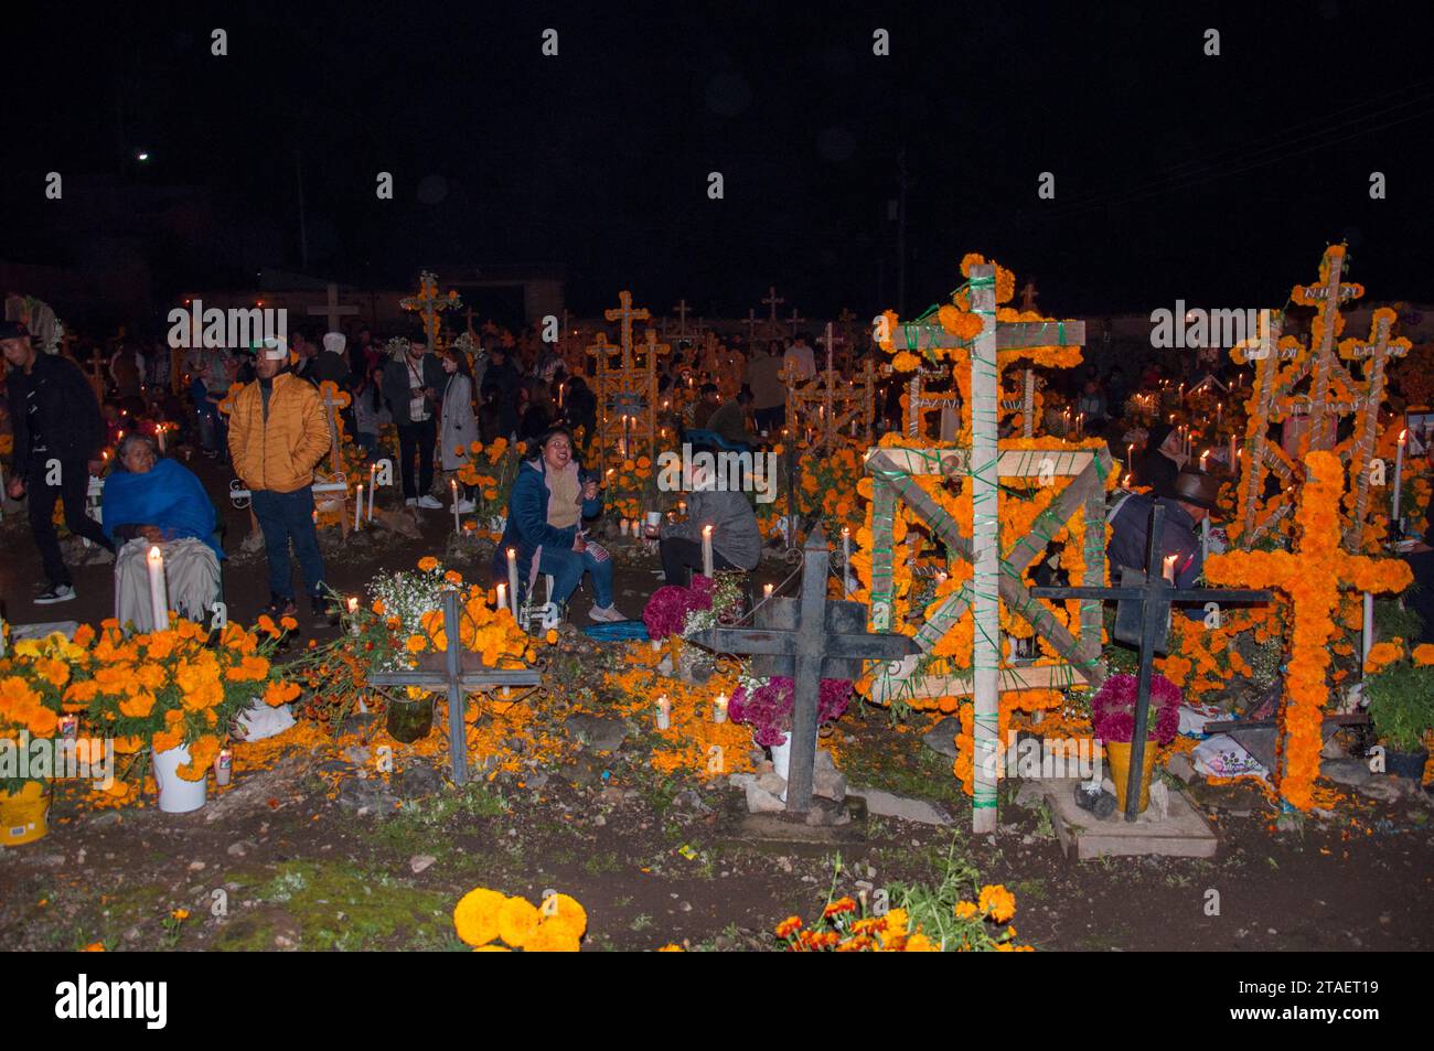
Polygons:
[[[218,492],[222,472],[195,466]],[[247,512],[221,512],[234,549]],[[351,594],[380,569],[447,553],[452,518],[430,512],[420,526],[419,538],[374,531],[340,545],[334,535],[331,582]],[[0,528],[6,591],[24,595],[37,572],[24,520],[7,516]],[[449,561],[485,579],[475,543],[467,559]],[[619,561],[618,607],[628,615],[655,585],[654,568],[655,558]],[[83,566],[77,601],[11,604],[9,615],[98,622],[109,614],[109,574],[108,563]],[[786,575],[773,558],[759,584]],[[234,617],[252,619],[267,599],[262,555],[227,566],[225,598]],[[585,608],[579,598],[574,622],[587,622]],[[999,833],[969,832],[951,760],[922,743],[932,717],[893,726],[883,710],[853,708],[835,727],[849,783],[928,800],[949,824],[873,814],[858,843],[761,842],[737,832],[743,793],[726,777],[652,767],[654,736],[641,720],[619,743],[592,740],[617,737],[615,720],[574,733],[566,701],[589,691],[601,710],[601,670],[615,660],[615,648],[565,629],[535,708],[572,738],[571,750],[561,761],[519,754],[516,770],[463,789],[443,780],[442,730],[397,746],[393,774],[374,774],[377,727],[357,717],[337,740],[310,727],[250,746],[258,758],[238,753],[232,784],[189,814],[93,810],[60,791],[50,834],[0,853],[0,946],[460,949],[453,905],[488,886],[531,900],[548,889],[574,896],[589,916],[589,951],[773,949],[776,923],[810,922],[833,890],[886,890],[895,900],[903,886],[944,880],[964,896],[1005,885],[1018,939],[1037,949],[1428,949],[1434,941],[1427,793],[1380,800],[1349,789],[1335,809],[1286,827],[1258,789],[1197,783],[1186,791],[1217,830],[1213,860],[1076,862],[1020,780],[1001,784]],[[1210,890],[1219,915],[1207,915]]]

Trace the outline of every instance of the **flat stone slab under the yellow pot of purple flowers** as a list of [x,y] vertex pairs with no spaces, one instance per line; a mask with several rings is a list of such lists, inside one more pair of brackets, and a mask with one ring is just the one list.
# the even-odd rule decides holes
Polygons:
[[1170,793],[1169,814],[1160,819],[1154,806],[1127,822],[1124,813],[1107,820],[1076,806],[1074,779],[1038,781],[1050,804],[1055,834],[1067,857],[1086,862],[1093,857],[1215,857],[1219,837],[1210,823],[1179,791]]

